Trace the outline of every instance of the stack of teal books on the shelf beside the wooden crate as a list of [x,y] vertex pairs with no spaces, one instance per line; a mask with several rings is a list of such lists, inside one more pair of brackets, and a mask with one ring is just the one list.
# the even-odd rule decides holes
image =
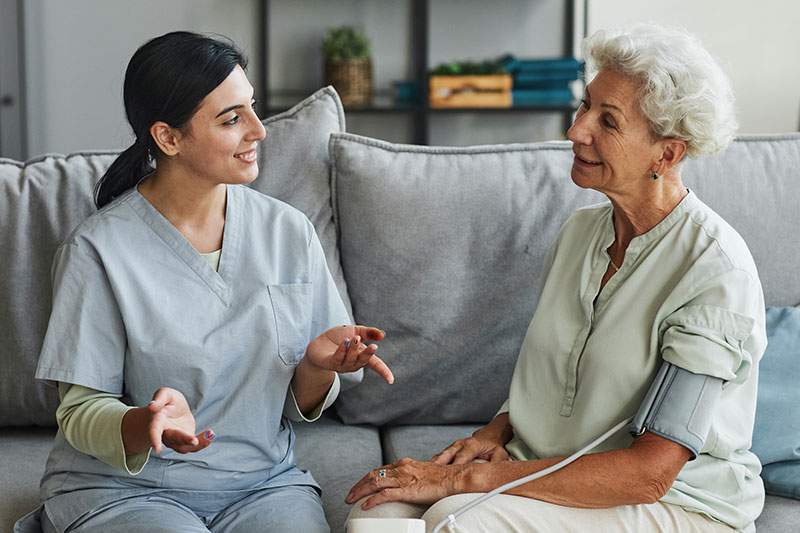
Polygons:
[[571,57],[517,59],[508,55],[500,63],[513,78],[515,107],[570,104],[575,99],[570,84],[583,73],[583,62]]

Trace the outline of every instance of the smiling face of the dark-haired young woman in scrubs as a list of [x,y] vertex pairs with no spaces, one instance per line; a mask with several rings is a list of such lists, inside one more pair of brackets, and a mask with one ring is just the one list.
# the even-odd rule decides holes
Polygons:
[[256,146],[266,132],[254,104],[253,87],[237,66],[181,128],[176,162],[196,179],[215,184],[256,179]]

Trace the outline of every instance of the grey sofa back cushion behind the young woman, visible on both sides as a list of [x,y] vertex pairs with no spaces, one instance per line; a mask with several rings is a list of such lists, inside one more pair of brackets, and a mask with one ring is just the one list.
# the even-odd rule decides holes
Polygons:
[[[264,121],[253,187],[303,211],[349,306],[330,206],[328,139],[344,128],[339,97],[321,89]],[[0,427],[55,423],[55,390],[33,373],[50,315],[50,267],[59,243],[90,214],[94,184],[116,152],[0,160]]]

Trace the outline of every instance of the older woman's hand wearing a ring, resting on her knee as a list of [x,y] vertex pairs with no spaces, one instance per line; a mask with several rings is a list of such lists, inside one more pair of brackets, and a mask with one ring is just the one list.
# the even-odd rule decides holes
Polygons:
[[353,504],[374,494],[362,504],[362,509],[393,501],[433,504],[458,494],[467,466],[400,459],[392,465],[372,470],[361,478],[350,489],[345,502]]

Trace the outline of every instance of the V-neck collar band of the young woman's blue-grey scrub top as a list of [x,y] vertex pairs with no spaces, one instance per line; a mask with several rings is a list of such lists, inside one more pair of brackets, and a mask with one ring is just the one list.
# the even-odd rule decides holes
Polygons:
[[225,226],[222,230],[222,255],[219,271],[215,271],[167,218],[133,188],[128,203],[156,235],[188,266],[220,300],[229,306],[233,280],[234,258],[238,255],[240,237],[239,190],[234,185],[225,188]]

